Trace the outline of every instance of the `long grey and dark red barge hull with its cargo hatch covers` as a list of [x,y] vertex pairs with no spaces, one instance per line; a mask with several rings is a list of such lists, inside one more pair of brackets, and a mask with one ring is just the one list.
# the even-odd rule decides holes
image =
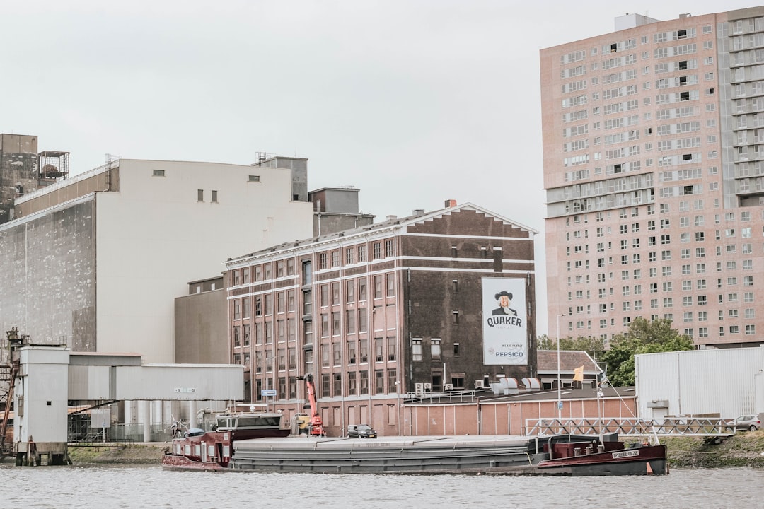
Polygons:
[[[251,472],[497,474],[497,475],[663,475],[669,473],[665,446],[623,449],[610,441],[604,452],[588,451],[592,441],[571,437],[289,437],[237,440],[225,465],[198,457],[167,454],[164,466],[185,469],[235,469]],[[562,442],[565,440],[565,442]],[[549,446],[555,459],[549,459]],[[595,451],[597,444],[592,446]],[[570,450],[575,456],[559,457]],[[573,454],[571,452],[571,454]],[[178,455],[175,455],[178,456]],[[228,458],[226,458],[228,459]]]

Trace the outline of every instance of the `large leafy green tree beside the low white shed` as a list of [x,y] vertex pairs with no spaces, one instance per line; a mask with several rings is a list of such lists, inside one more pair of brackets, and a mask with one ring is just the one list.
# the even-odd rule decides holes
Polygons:
[[610,385],[634,385],[634,356],[639,353],[678,352],[693,350],[692,338],[672,329],[666,318],[646,321],[638,317],[629,324],[626,333],[616,334],[610,348],[602,356],[607,362]]

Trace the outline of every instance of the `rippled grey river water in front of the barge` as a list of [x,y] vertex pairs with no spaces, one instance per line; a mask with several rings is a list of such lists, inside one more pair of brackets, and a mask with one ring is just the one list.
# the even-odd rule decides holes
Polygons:
[[183,472],[160,466],[0,465],[2,507],[179,509],[759,509],[764,470],[672,469],[660,477]]

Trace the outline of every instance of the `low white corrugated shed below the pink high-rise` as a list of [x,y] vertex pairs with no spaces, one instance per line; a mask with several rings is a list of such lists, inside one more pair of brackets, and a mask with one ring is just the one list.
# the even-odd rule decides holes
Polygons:
[[764,412],[764,346],[634,357],[639,417]]

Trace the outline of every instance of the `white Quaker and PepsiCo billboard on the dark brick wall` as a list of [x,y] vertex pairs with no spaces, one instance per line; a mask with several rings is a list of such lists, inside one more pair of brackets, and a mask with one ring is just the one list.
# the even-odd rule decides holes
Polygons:
[[483,362],[528,364],[526,280],[483,278]]

